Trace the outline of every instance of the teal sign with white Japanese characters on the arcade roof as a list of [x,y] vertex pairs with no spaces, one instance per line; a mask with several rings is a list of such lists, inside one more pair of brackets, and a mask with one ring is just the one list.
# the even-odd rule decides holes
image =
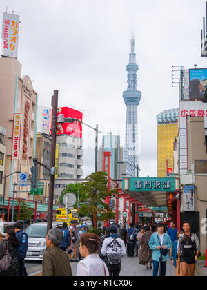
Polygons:
[[175,191],[175,178],[129,178],[128,191]]

